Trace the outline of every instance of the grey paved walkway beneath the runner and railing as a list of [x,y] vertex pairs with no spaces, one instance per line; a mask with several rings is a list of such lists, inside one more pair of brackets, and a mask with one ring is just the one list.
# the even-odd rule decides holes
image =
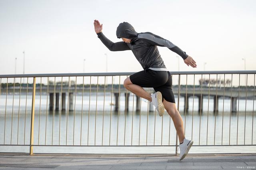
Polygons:
[[256,154],[11,154],[0,153],[0,169],[256,169]]

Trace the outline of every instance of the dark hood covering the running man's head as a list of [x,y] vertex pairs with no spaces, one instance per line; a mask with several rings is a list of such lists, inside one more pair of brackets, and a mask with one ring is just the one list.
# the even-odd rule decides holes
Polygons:
[[123,37],[133,40],[137,36],[138,33],[135,31],[134,27],[128,22],[120,23],[116,29],[116,37],[118,38]]

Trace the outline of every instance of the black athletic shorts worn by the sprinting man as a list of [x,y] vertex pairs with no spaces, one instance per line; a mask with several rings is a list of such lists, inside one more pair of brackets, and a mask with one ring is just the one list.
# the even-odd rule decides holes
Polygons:
[[141,87],[154,88],[156,92],[161,92],[167,102],[175,103],[172,92],[172,76],[168,71],[154,71],[149,68],[136,72],[130,76],[132,84]]

